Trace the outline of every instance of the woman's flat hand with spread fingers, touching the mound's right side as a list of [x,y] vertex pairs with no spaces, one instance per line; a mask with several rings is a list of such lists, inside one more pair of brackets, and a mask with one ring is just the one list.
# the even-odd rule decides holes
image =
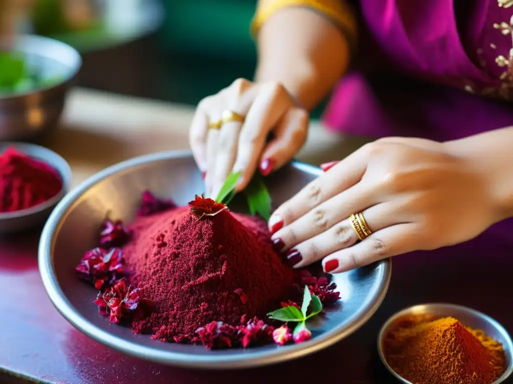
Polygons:
[[[366,144],[282,204],[269,228],[296,268],[323,260],[343,272],[476,237],[499,221],[486,176],[450,143],[386,138]],[[362,212],[358,242],[349,217]]]

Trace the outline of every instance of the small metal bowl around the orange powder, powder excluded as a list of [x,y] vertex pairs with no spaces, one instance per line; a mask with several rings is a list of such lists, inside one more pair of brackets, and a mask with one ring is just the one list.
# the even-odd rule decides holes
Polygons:
[[471,327],[473,329],[481,329],[483,332],[499,343],[502,344],[502,348],[504,349],[504,353],[506,355],[506,370],[493,384],[498,384],[506,380],[511,372],[513,372],[513,342],[511,341],[511,337],[508,332],[504,329],[502,325],[500,325],[497,321],[492,319],[490,316],[485,315],[482,312],[476,311],[471,308],[463,307],[461,305],[456,304],[442,304],[442,303],[430,303],[430,304],[420,304],[413,307],[409,307],[403,309],[402,311],[397,312],[392,317],[390,317],[385,324],[381,327],[381,330],[378,334],[378,353],[380,355],[381,361],[385,367],[390,371],[392,375],[394,375],[399,381],[411,384],[410,381],[398,375],[387,363],[384,354],[384,339],[385,335],[389,332],[390,328],[396,323],[396,321],[407,315],[423,315],[423,314],[432,314],[437,317],[446,317],[451,316],[458,321],[461,322],[466,327]]

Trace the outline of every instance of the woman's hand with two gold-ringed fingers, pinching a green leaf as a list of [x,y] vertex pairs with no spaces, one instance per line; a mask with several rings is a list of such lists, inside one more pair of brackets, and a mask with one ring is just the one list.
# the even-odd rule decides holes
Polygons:
[[[220,129],[209,129],[225,111],[243,116],[244,121],[227,121]],[[276,82],[238,79],[203,99],[192,120],[190,144],[208,196],[215,198],[231,172],[242,173],[236,186],[241,191],[257,166],[267,176],[284,165],[303,146],[307,127],[307,111]],[[267,142],[271,132],[273,138]]]

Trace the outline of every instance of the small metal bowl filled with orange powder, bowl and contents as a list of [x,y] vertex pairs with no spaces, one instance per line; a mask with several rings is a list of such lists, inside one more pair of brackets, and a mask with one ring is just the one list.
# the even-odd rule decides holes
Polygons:
[[513,371],[512,351],[502,325],[454,304],[406,308],[378,335],[383,364],[404,383],[497,384]]

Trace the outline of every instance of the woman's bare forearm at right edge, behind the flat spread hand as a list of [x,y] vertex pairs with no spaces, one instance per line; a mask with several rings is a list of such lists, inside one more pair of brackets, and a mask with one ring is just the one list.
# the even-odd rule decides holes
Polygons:
[[[513,127],[446,143],[483,176],[499,220],[513,217]],[[471,193],[471,191],[469,191]]]

